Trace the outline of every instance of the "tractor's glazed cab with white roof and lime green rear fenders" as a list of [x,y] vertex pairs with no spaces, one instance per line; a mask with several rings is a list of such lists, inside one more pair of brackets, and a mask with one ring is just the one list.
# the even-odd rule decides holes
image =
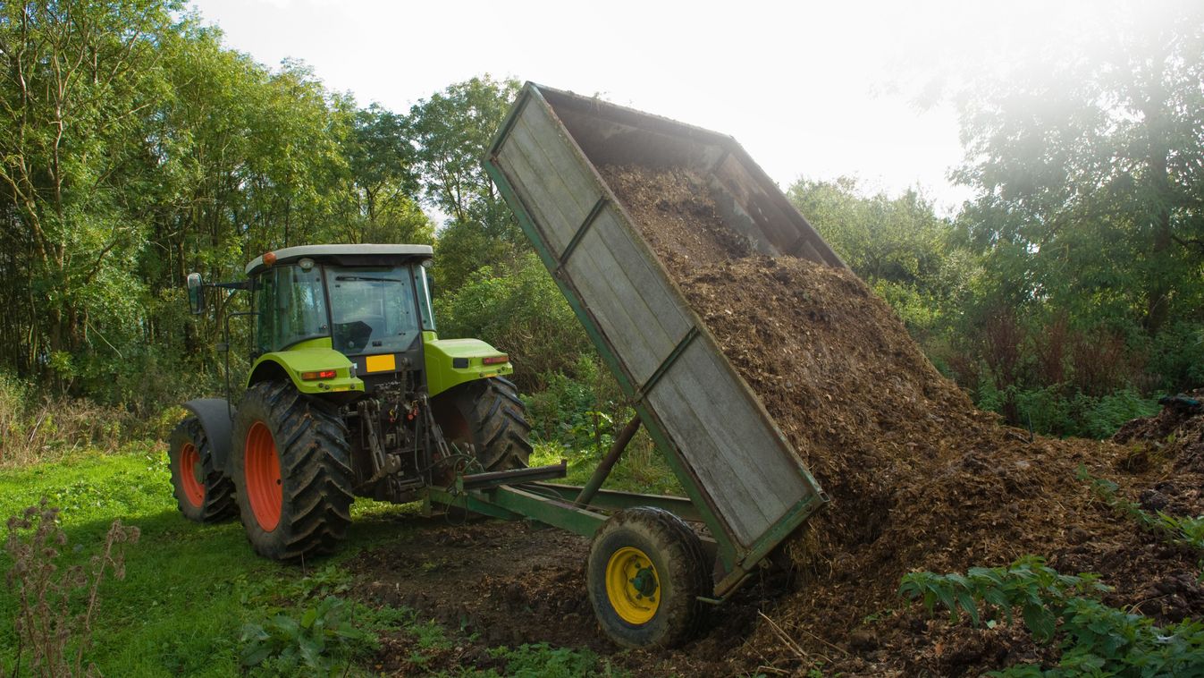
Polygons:
[[430,246],[290,247],[270,257],[247,265],[258,354],[248,387],[283,371],[305,394],[372,393],[417,370],[433,397],[514,371],[483,341],[438,338],[423,265]]

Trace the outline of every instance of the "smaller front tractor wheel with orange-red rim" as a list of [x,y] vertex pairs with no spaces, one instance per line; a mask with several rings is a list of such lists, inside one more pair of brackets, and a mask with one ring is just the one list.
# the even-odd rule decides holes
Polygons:
[[217,467],[200,419],[181,421],[167,438],[171,488],[184,518],[196,523],[218,523],[232,518],[238,506],[234,482]]

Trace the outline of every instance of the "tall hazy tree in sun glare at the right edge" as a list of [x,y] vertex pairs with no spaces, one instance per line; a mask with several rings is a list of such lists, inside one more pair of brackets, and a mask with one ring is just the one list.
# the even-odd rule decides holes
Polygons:
[[963,95],[964,223],[1008,302],[1200,319],[1204,8],[1182,10]]

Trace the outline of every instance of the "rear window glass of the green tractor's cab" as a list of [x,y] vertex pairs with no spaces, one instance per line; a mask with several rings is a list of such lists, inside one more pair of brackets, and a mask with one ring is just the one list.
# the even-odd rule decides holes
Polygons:
[[326,266],[326,290],[335,350],[394,353],[419,334],[409,266]]

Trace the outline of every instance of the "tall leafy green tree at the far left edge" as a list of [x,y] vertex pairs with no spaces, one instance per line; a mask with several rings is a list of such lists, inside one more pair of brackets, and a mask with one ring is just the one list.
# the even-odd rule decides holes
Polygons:
[[76,356],[123,343],[152,206],[143,125],[165,87],[157,43],[179,5],[0,5],[2,350],[69,383]]

